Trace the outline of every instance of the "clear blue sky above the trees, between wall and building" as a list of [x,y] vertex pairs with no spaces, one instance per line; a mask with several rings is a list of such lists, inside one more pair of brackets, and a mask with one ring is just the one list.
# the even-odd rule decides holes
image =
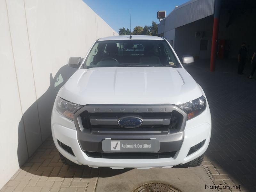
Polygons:
[[83,0],[116,32],[119,28],[151,25],[152,20],[159,23],[156,18],[157,11],[166,11],[168,15],[176,5],[181,5],[188,0]]

